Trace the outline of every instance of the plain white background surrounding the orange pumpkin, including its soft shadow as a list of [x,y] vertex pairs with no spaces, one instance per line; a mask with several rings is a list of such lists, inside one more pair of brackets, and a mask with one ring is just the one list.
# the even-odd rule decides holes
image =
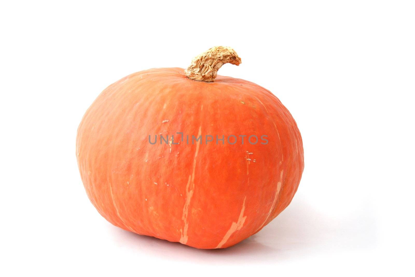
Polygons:
[[[414,14],[413,1],[2,2],[0,275],[413,274]],[[291,205],[225,250],[112,226],[78,173],[83,113],[114,81],[215,45],[242,58],[220,75],[268,88],[298,123]]]

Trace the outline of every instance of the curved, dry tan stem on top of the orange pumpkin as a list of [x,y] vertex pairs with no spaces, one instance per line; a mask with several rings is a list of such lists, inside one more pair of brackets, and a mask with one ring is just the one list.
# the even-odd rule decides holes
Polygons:
[[225,46],[215,46],[196,56],[192,64],[184,71],[190,79],[203,82],[213,82],[217,71],[224,64],[239,65],[241,58],[235,50]]

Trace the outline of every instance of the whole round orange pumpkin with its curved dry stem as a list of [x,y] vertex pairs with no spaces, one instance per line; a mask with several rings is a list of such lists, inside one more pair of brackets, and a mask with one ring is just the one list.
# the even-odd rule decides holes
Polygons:
[[303,172],[298,127],[270,91],[217,76],[239,65],[213,47],[190,66],[113,83],[78,127],[86,193],[107,221],[194,248],[227,248],[293,199]]

